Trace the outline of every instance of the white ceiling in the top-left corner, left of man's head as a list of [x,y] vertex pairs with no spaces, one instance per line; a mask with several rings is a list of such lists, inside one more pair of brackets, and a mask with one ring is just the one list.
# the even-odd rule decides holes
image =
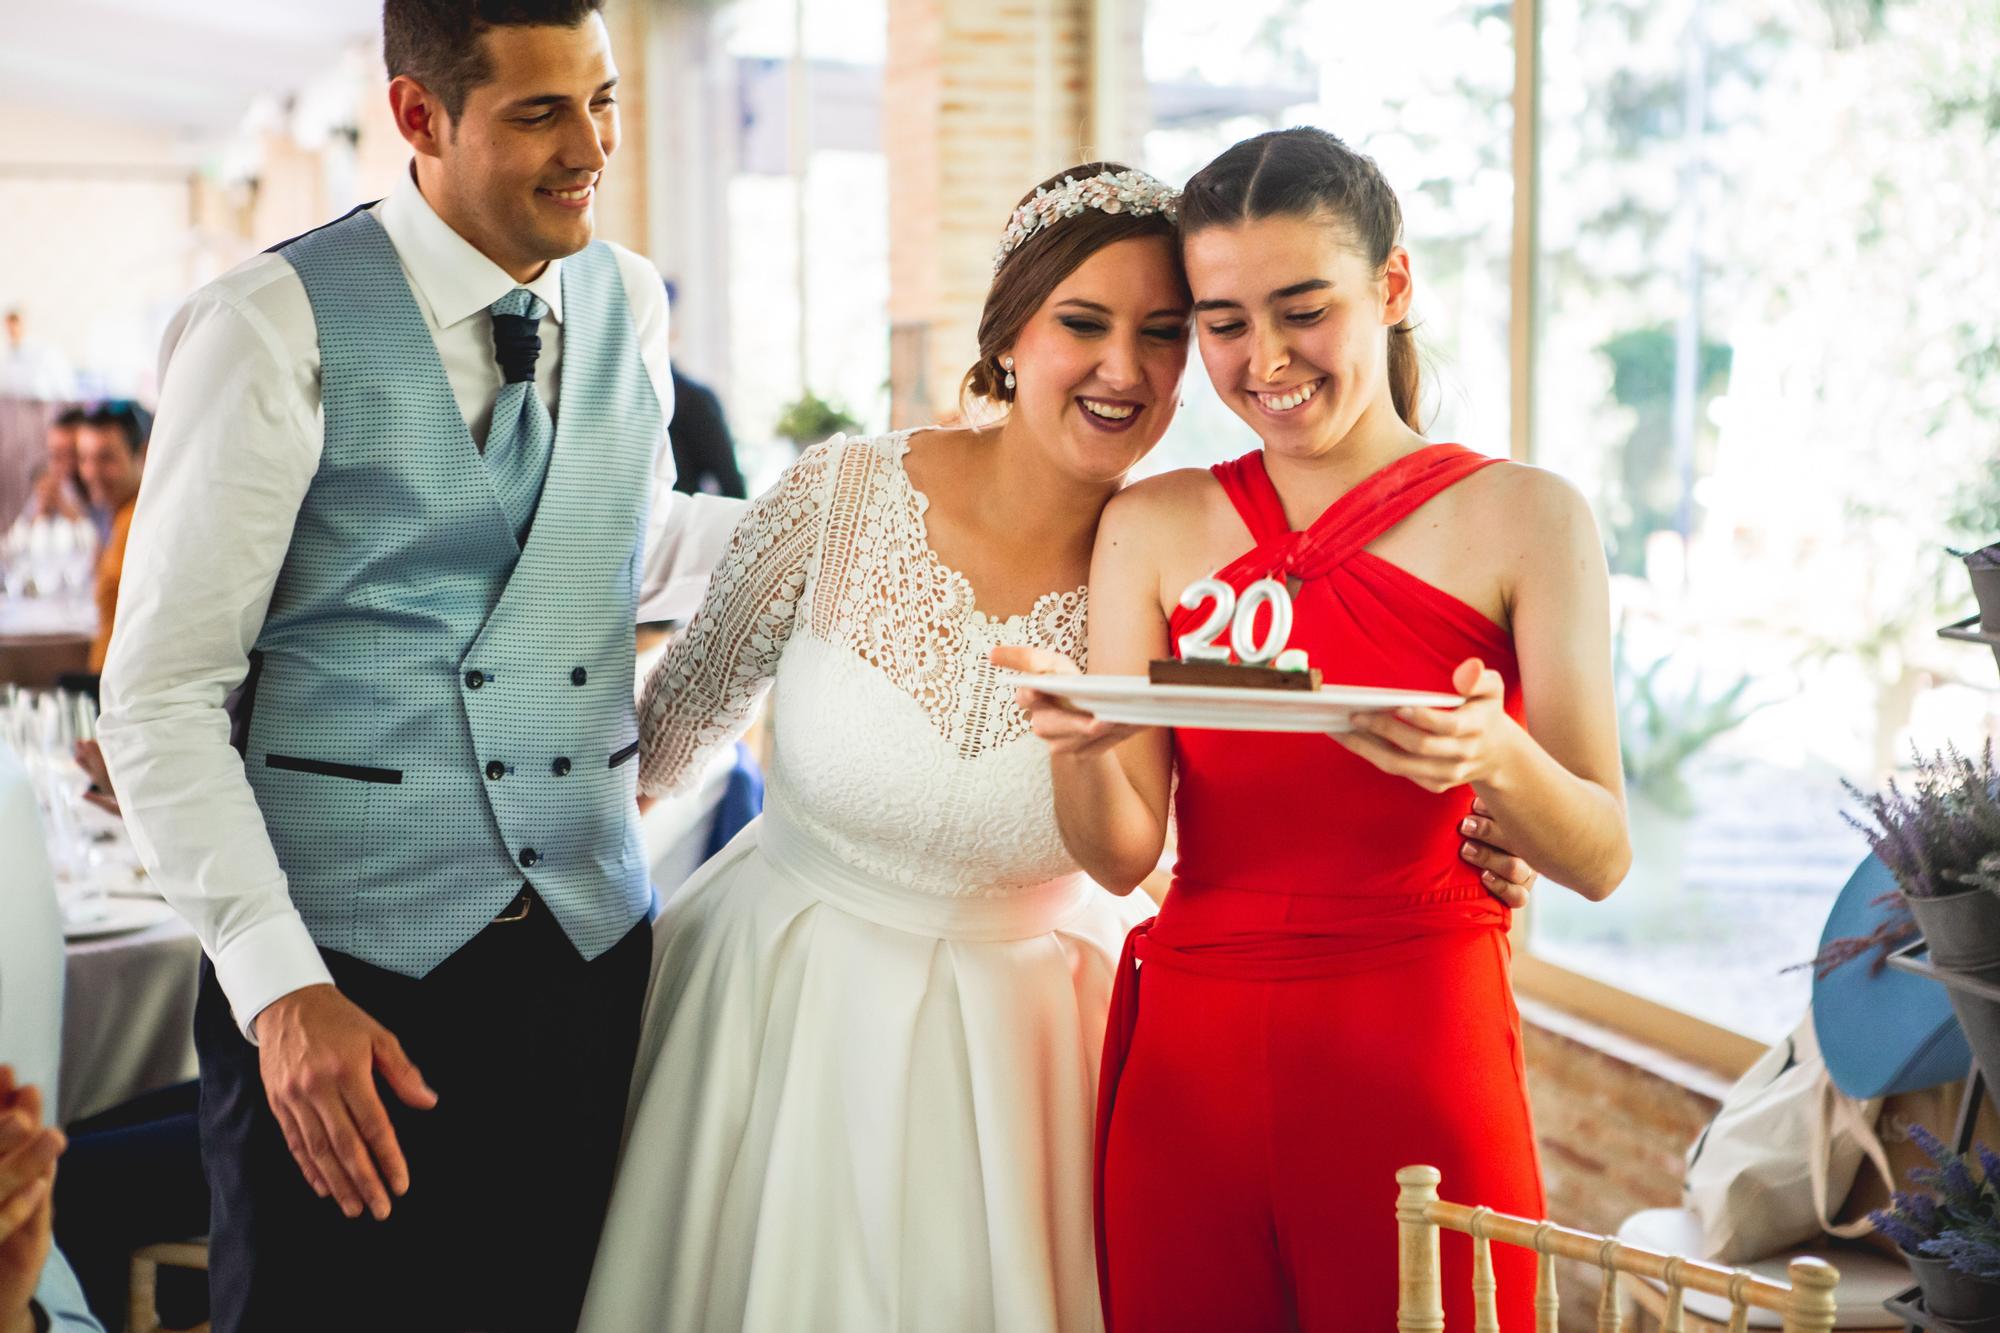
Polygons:
[[380,24],[382,0],[0,0],[0,98],[212,140]]

